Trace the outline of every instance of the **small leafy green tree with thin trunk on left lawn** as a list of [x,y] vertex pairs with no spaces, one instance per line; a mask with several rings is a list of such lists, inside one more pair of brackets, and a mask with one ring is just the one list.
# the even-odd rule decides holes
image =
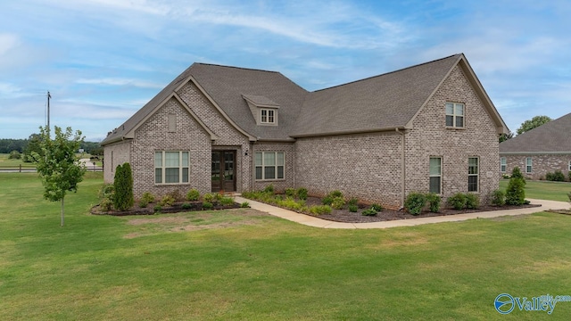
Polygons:
[[55,127],[55,137],[51,139],[50,129],[40,127],[39,146],[42,154],[32,152],[34,161],[37,162],[37,173],[44,185],[44,198],[51,202],[62,201],[63,226],[63,199],[65,193],[77,192],[79,182],[83,180],[86,172],[84,165],[79,161],[76,152],[84,137],[77,130],[72,134],[71,128]]

